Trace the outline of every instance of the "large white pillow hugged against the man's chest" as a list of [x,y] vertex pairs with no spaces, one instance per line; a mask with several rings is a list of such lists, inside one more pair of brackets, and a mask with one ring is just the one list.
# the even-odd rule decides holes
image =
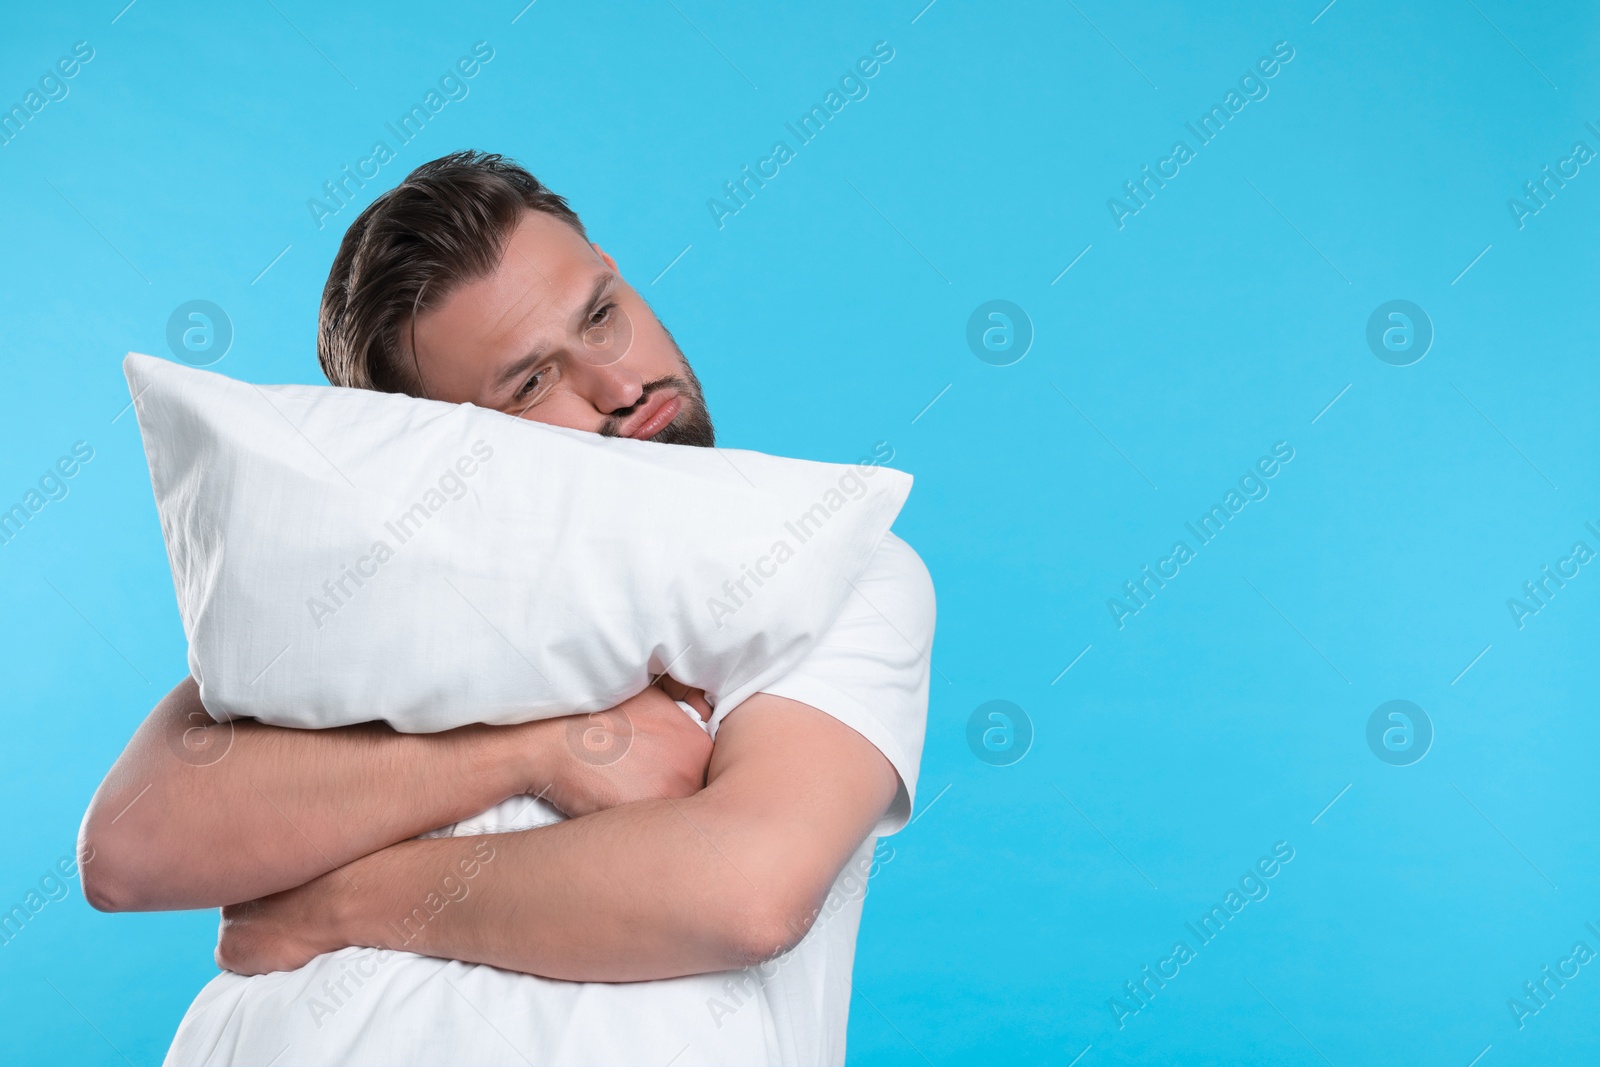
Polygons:
[[218,720],[430,733],[613,707],[659,672],[738,704],[822,635],[912,482],[138,354],[123,371]]

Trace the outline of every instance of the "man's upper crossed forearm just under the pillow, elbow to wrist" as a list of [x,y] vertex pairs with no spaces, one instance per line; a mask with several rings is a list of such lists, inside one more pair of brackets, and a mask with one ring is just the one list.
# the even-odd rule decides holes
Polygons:
[[491,726],[206,725],[186,680],[128,744],[83,819],[85,893],[107,910],[216,907],[310,881],[526,787]]

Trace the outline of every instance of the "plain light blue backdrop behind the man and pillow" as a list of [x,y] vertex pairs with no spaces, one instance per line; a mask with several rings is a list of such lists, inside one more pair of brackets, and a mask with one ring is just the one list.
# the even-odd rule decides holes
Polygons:
[[[1522,1030],[1507,1008],[1600,949],[1600,565],[1520,630],[1506,606],[1600,549],[1600,166],[1525,229],[1507,208],[1600,149],[1600,16],[923,3],[8,11],[5,106],[74,42],[96,54],[0,147],[0,504],[77,440],[94,459],[0,547],[0,905],[70,853],[184,673],[122,355],[170,355],[168,315],[203,298],[235,330],[216,370],[318,382],[342,227],[478,147],[571,198],[725,443],[890,442],[917,477],[896,530],[939,590],[918,790],[939,800],[874,880],[851,1062],[1600,1057],[1600,965]],[[478,40],[470,96],[318,230],[307,198]],[[707,198],[880,40],[870,96],[718,230]],[[1283,40],[1270,96],[1118,230],[1107,198]],[[965,342],[997,298],[1035,330],[1005,368]],[[1437,331],[1406,368],[1365,344],[1397,298]],[[1275,442],[1296,451],[1270,496],[1118,630],[1106,600]],[[989,699],[1034,723],[1013,766],[966,745]],[[1414,766],[1366,747],[1389,699],[1437,729]],[[1270,896],[1118,1029],[1107,1000],[1275,841],[1296,851]],[[101,915],[74,885],[0,947],[0,1059],[158,1062],[214,925]]]

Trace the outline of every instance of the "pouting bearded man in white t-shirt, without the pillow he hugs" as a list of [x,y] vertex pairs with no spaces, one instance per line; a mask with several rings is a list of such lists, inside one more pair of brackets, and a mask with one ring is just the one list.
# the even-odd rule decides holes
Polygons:
[[[336,386],[714,442],[648,304],[496,155],[427,163],[362,213],[318,355]],[[85,894],[222,907],[232,974],[173,1064],[842,1062],[875,838],[910,813],[933,611],[890,534],[766,693],[712,709],[662,678],[576,733],[214,725],[186,678],[85,816]],[[622,718],[626,753],[595,758]]]

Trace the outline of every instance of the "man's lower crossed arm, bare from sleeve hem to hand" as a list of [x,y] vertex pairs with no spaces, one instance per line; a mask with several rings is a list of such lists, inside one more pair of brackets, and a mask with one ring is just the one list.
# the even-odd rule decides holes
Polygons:
[[218,963],[259,974],[371,945],[568,981],[746,966],[800,941],[896,785],[850,726],[758,694],[723,721],[693,797],[402,841],[224,909]]

